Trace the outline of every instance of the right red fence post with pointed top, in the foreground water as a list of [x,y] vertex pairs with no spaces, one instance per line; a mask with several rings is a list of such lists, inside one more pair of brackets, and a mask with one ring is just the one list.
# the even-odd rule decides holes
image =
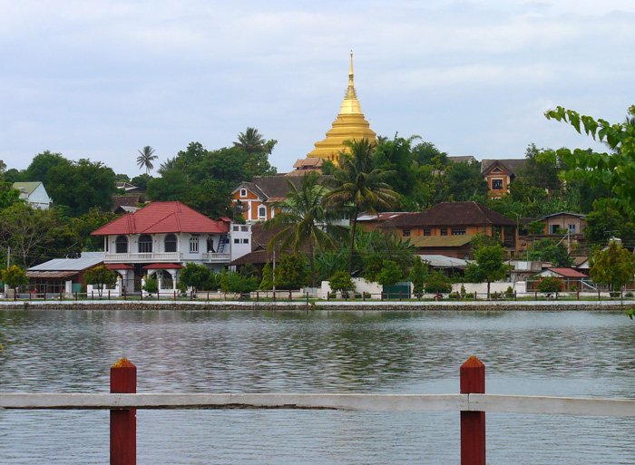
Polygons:
[[[485,393],[485,365],[474,356],[461,365],[461,393]],[[485,465],[485,412],[461,412],[461,465]]]

